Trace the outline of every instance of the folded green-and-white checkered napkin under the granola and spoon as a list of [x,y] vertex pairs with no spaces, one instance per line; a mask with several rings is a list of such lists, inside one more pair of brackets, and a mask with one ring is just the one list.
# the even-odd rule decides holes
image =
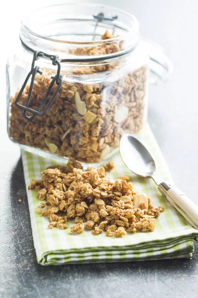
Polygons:
[[[154,157],[157,171],[164,180],[171,181],[168,168],[160,149],[147,125],[139,135]],[[47,159],[22,150],[22,159],[26,187],[32,179],[41,179],[41,171],[57,160]],[[36,198],[37,191],[27,190],[32,233],[38,263],[57,265],[68,263],[140,261],[169,258],[190,258],[194,251],[193,241],[198,241],[198,230],[193,228],[160,194],[151,178],[142,178],[131,173],[123,164],[119,153],[111,159],[115,168],[108,176],[114,179],[129,176],[135,189],[151,197],[153,205],[164,205],[165,211],[157,218],[154,232],[127,233],[123,238],[107,237],[104,232],[93,235],[84,230],[81,234],[72,235],[68,228],[49,229],[48,219],[41,217],[35,209],[40,207]]]

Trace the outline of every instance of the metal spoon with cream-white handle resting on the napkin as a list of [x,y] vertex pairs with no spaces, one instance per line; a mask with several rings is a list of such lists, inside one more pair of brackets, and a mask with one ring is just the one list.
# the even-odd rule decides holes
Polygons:
[[132,172],[142,177],[151,177],[166,199],[192,226],[198,229],[198,206],[176,186],[164,182],[156,174],[152,156],[138,139],[129,134],[123,135],[120,140],[120,154]]

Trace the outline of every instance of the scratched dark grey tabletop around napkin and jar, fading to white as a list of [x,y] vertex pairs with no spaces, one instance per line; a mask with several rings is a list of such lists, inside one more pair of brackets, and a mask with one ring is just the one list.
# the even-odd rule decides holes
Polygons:
[[[122,0],[108,4],[133,12],[142,35],[161,44],[174,64],[169,81],[149,89],[148,122],[176,185],[197,202],[198,2]],[[192,259],[38,265],[20,150],[9,141],[5,127],[5,98],[1,98],[0,297],[198,297],[197,245]]]

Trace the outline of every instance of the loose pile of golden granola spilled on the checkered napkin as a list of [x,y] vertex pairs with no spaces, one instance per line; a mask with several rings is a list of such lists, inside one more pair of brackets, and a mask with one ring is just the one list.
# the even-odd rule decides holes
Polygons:
[[[77,167],[78,168],[77,168]],[[105,170],[112,162],[100,168],[82,166],[71,158],[66,166],[55,165],[41,173],[42,182],[33,180],[29,189],[38,190],[41,208],[36,211],[49,218],[49,228],[67,228],[67,220],[74,219],[71,233],[90,229],[93,234],[106,231],[107,236],[122,237],[127,232],[154,231],[155,218],[164,210],[154,208],[150,198],[138,193],[128,177],[113,181]],[[66,216],[64,216],[66,214]]]

